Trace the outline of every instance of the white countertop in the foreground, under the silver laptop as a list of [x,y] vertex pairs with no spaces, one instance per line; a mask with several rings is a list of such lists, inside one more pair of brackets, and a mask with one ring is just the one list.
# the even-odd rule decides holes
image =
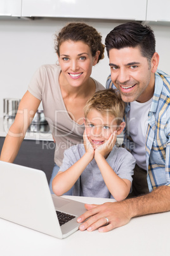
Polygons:
[[[69,196],[67,196],[68,198]],[[110,199],[72,197],[101,204]],[[133,218],[107,233],[76,231],[58,239],[0,218],[0,253],[3,256],[160,256],[169,255],[170,212]]]

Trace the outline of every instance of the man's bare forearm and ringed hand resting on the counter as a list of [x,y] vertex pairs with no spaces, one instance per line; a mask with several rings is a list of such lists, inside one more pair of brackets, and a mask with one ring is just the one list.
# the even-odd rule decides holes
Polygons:
[[[128,224],[133,217],[170,211],[170,187],[160,186],[154,191],[139,197],[133,197],[121,202],[105,203],[99,206],[85,204],[88,211],[77,218],[77,222],[84,222],[79,229],[84,231],[107,232],[115,227]],[[107,219],[108,219],[108,225]]]

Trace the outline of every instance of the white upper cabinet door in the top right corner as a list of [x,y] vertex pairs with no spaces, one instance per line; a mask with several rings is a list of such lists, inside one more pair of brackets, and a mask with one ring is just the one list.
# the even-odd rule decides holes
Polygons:
[[148,0],[147,21],[170,21],[169,0]]

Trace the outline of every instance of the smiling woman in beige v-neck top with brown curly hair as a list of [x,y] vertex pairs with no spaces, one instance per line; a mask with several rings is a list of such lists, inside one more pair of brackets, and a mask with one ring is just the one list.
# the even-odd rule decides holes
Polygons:
[[[44,115],[56,143],[55,167],[49,184],[62,164],[65,149],[82,143],[86,101],[103,86],[90,77],[92,67],[103,59],[104,46],[95,28],[73,22],[55,38],[58,64],[44,65],[33,76],[18,107],[15,122],[4,141],[1,160],[13,162],[25,133],[42,101]],[[68,194],[71,194],[69,192]]]

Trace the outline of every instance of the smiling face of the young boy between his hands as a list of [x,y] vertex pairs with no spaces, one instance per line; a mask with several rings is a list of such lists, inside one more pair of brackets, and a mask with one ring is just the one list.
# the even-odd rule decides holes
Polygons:
[[118,129],[115,117],[106,113],[105,116],[95,109],[89,111],[86,121],[86,134],[94,149],[107,141]]

